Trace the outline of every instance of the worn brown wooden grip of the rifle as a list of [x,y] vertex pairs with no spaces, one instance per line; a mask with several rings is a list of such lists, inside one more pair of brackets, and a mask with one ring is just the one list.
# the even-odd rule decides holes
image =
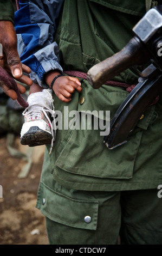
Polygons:
[[98,89],[130,66],[144,64],[149,57],[144,45],[137,36],[134,36],[120,52],[90,68],[87,72],[87,80],[94,89]]

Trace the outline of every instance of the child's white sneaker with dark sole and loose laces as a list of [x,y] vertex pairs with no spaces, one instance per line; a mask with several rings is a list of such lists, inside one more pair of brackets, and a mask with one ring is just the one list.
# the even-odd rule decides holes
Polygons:
[[23,112],[25,123],[22,126],[20,143],[29,147],[51,144],[52,149],[56,134],[54,135],[51,123],[51,118],[55,120],[51,89],[30,94],[28,103],[29,106]]

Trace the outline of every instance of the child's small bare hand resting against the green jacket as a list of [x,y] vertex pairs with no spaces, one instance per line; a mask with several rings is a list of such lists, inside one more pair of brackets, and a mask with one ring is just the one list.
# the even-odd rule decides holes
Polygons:
[[75,90],[81,92],[81,83],[78,78],[71,76],[60,76],[58,77],[54,84],[53,90],[56,96],[64,102],[69,102],[72,100],[72,94]]

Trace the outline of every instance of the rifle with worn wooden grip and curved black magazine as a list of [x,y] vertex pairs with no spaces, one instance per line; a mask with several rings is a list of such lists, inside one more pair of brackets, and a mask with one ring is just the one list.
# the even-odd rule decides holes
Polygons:
[[146,108],[162,92],[162,5],[147,11],[133,28],[134,37],[121,51],[94,65],[87,80],[98,89],[107,80],[133,65],[150,65],[141,72],[137,86],[122,102],[111,120],[103,142],[109,149],[126,143]]

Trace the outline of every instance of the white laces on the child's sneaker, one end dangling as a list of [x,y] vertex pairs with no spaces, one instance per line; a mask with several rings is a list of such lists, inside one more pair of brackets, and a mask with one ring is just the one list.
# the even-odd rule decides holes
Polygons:
[[[37,107],[40,107],[38,110],[35,110],[35,109],[31,109],[29,110],[29,108],[33,107],[33,106],[37,106]],[[53,106],[54,108],[54,106]],[[56,138],[56,121],[55,121],[55,111],[51,108],[49,108],[48,106],[44,106],[44,105],[41,105],[41,104],[33,104],[33,105],[30,105],[28,106],[27,108],[25,108],[24,112],[22,113],[23,115],[27,115],[28,119],[29,120],[35,120],[35,119],[42,119],[42,112],[44,114],[44,116],[47,118],[48,120],[48,123],[50,125],[50,130],[51,130],[51,134],[52,134],[52,139],[51,139],[51,147],[50,147],[50,151],[49,151],[49,155],[51,153],[51,150],[53,149],[53,145],[54,145],[54,141],[55,141],[55,138]],[[48,116],[48,113],[51,114],[51,117],[53,117],[54,121],[54,129],[53,129],[53,124],[51,123],[51,120]],[[34,118],[35,117],[35,118]],[[34,118],[34,119],[33,119]],[[55,132],[54,132],[55,131]]]

